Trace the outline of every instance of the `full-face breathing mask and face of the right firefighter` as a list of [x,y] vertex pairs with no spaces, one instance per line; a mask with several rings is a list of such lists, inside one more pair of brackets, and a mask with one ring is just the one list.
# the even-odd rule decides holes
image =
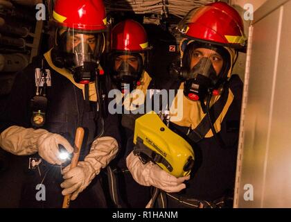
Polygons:
[[[186,41],[184,44],[187,43]],[[184,48],[186,49],[182,58],[182,67],[179,70],[179,77],[184,80],[184,95],[191,101],[200,101],[202,110],[206,113],[204,101],[208,96],[210,99],[211,96],[218,96],[227,81],[231,63],[229,52],[222,46],[202,42],[191,42]],[[206,55],[203,55],[199,49],[206,49]],[[195,65],[191,67],[193,61]],[[221,67],[219,73],[215,71],[215,64],[219,66],[217,63],[220,63]]]

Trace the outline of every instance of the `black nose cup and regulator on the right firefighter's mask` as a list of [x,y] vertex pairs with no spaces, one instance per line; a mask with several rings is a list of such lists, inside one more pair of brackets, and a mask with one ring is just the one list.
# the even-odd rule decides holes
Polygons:
[[186,79],[184,95],[193,101],[204,101],[206,95],[211,93],[220,82],[208,58],[202,58],[190,72],[182,69],[181,76]]

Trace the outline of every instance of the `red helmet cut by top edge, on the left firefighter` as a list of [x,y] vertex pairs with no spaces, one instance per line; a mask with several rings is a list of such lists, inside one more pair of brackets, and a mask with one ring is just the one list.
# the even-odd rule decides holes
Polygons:
[[53,19],[61,26],[82,31],[103,31],[107,24],[102,0],[57,0]]

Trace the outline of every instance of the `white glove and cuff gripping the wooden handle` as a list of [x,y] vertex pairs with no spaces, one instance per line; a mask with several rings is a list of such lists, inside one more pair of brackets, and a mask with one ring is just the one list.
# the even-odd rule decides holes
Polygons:
[[60,185],[64,188],[62,195],[72,194],[71,200],[75,200],[78,194],[100,173],[100,170],[114,159],[117,151],[118,144],[113,137],[95,139],[85,161],[79,162],[78,167],[70,169],[71,165],[69,165],[62,171],[64,175],[64,182]]

